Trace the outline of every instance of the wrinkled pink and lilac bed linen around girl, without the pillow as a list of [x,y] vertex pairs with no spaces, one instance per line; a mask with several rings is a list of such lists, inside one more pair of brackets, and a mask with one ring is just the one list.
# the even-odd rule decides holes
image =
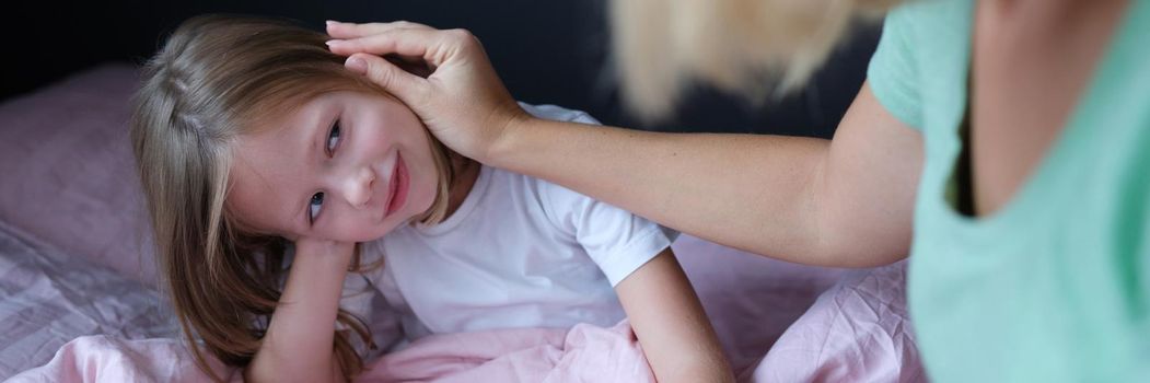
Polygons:
[[[673,247],[744,381],[915,382],[921,376],[905,315],[902,263],[848,273],[834,284],[842,270],[772,260],[689,236]],[[33,248],[3,230],[0,276],[0,378],[36,366],[41,367],[22,380],[206,378],[181,348],[170,312],[161,309],[153,290],[66,254]],[[593,374],[586,381],[599,381],[605,371],[642,376],[647,367],[637,362],[642,353],[629,331],[582,325],[569,332],[436,335],[379,359],[365,380],[467,381],[504,374],[516,381],[508,374],[521,374],[526,382],[539,376],[568,382],[584,371]],[[603,365],[584,368],[596,362]],[[123,371],[84,375],[89,369]]]

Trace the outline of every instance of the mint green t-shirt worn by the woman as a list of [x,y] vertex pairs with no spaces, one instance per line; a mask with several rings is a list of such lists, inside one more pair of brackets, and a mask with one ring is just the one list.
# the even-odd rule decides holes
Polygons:
[[1000,210],[956,209],[973,1],[885,21],[868,81],[921,131],[907,281],[936,382],[1150,382],[1150,0],[1132,0],[1066,127]]

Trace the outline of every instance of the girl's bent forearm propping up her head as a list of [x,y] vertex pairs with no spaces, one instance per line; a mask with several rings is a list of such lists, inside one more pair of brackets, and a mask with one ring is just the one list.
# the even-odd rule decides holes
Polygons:
[[251,382],[340,382],[336,314],[353,244],[302,239],[260,351],[244,370]]

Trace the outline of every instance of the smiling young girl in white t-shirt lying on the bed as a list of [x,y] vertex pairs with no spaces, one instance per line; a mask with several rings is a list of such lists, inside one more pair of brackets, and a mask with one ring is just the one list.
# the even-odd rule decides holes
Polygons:
[[132,141],[191,344],[253,381],[350,380],[363,355],[348,334],[370,344],[369,313],[340,293],[367,281],[408,339],[626,316],[658,380],[731,378],[673,233],[445,150],[325,40],[202,16],[147,64]]

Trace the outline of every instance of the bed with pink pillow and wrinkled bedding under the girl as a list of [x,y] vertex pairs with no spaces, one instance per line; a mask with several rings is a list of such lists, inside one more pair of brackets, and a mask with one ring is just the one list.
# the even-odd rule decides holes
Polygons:
[[[128,145],[128,100],[137,81],[133,66],[107,63],[0,104],[0,380],[206,380],[156,286]],[[690,236],[674,246],[741,381],[926,381],[906,316],[902,262],[841,270]],[[619,365],[649,373],[626,325],[432,340],[383,357],[371,366],[384,373],[363,380],[642,377],[604,373]],[[519,348],[491,346],[511,343]],[[605,360],[603,350],[634,358]],[[452,353],[462,352],[477,362],[451,365],[461,360]],[[519,359],[508,359],[516,352]],[[524,366],[542,375],[498,375]]]

